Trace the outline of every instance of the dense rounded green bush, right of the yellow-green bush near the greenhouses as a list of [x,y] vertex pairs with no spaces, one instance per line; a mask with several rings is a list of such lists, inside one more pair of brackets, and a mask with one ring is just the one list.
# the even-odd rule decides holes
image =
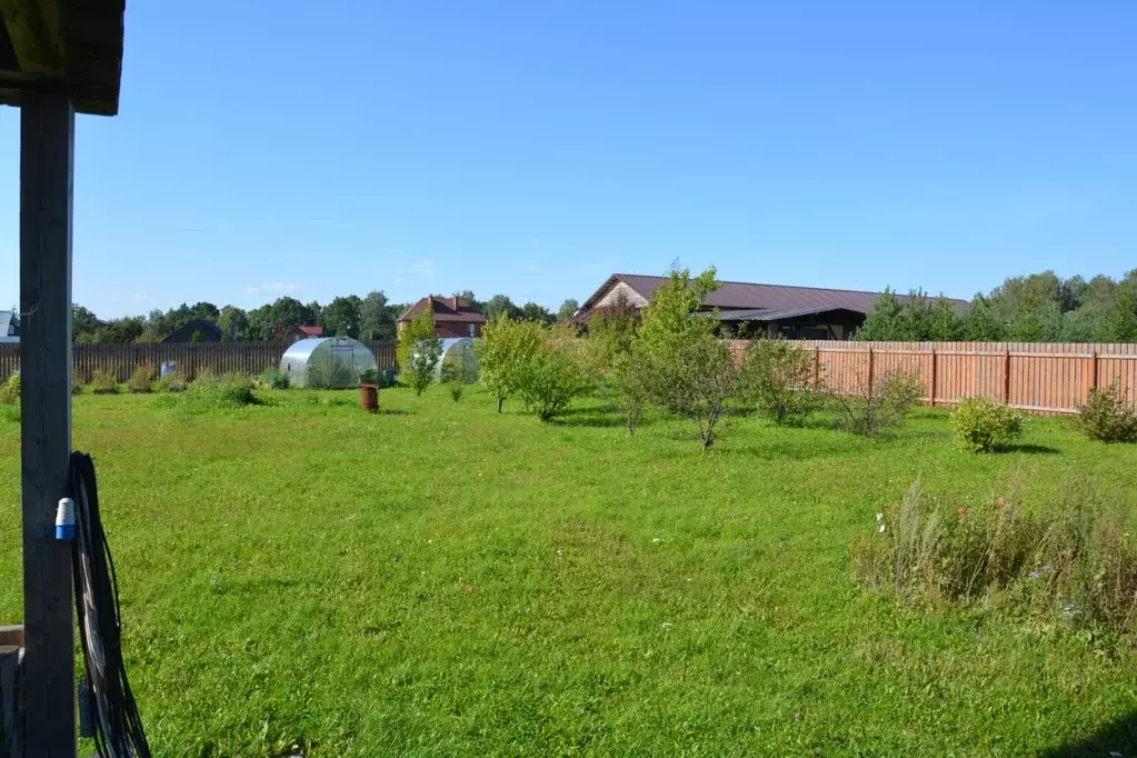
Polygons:
[[534,327],[541,333],[540,347],[520,367],[517,391],[525,407],[542,422],[564,413],[578,394],[588,389],[580,343],[571,326]]

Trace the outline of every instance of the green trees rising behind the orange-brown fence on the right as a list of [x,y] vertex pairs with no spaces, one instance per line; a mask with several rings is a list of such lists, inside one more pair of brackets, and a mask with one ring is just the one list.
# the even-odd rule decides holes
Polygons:
[[1137,342],[1137,268],[1121,280],[1062,278],[1052,270],[1007,278],[961,313],[943,294],[886,289],[858,340],[901,342]]

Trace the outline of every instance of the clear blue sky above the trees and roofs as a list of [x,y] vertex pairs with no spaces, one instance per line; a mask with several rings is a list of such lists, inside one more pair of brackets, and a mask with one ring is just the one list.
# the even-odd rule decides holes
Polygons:
[[[1131,0],[273,8],[127,3],[121,114],[76,126],[77,302],[1137,266]],[[17,184],[0,108],[0,307]]]

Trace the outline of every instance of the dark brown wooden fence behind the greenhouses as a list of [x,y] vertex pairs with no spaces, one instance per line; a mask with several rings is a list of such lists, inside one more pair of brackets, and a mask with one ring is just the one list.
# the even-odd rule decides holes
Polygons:
[[[364,341],[380,368],[395,367],[393,340]],[[192,378],[202,370],[215,374],[260,374],[276,368],[288,349],[285,342],[78,342],[74,345],[75,377],[91,381],[97,370],[111,372],[125,382],[138,366],[158,373],[163,364],[176,364]],[[19,345],[0,344],[0,381],[19,367]]]

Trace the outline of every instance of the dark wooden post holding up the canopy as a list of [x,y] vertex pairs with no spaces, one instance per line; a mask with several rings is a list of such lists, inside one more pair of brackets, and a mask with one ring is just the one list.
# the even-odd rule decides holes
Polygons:
[[64,94],[20,95],[20,477],[24,517],[24,749],[75,756],[70,543],[55,539],[67,492],[72,382],[72,167]]

